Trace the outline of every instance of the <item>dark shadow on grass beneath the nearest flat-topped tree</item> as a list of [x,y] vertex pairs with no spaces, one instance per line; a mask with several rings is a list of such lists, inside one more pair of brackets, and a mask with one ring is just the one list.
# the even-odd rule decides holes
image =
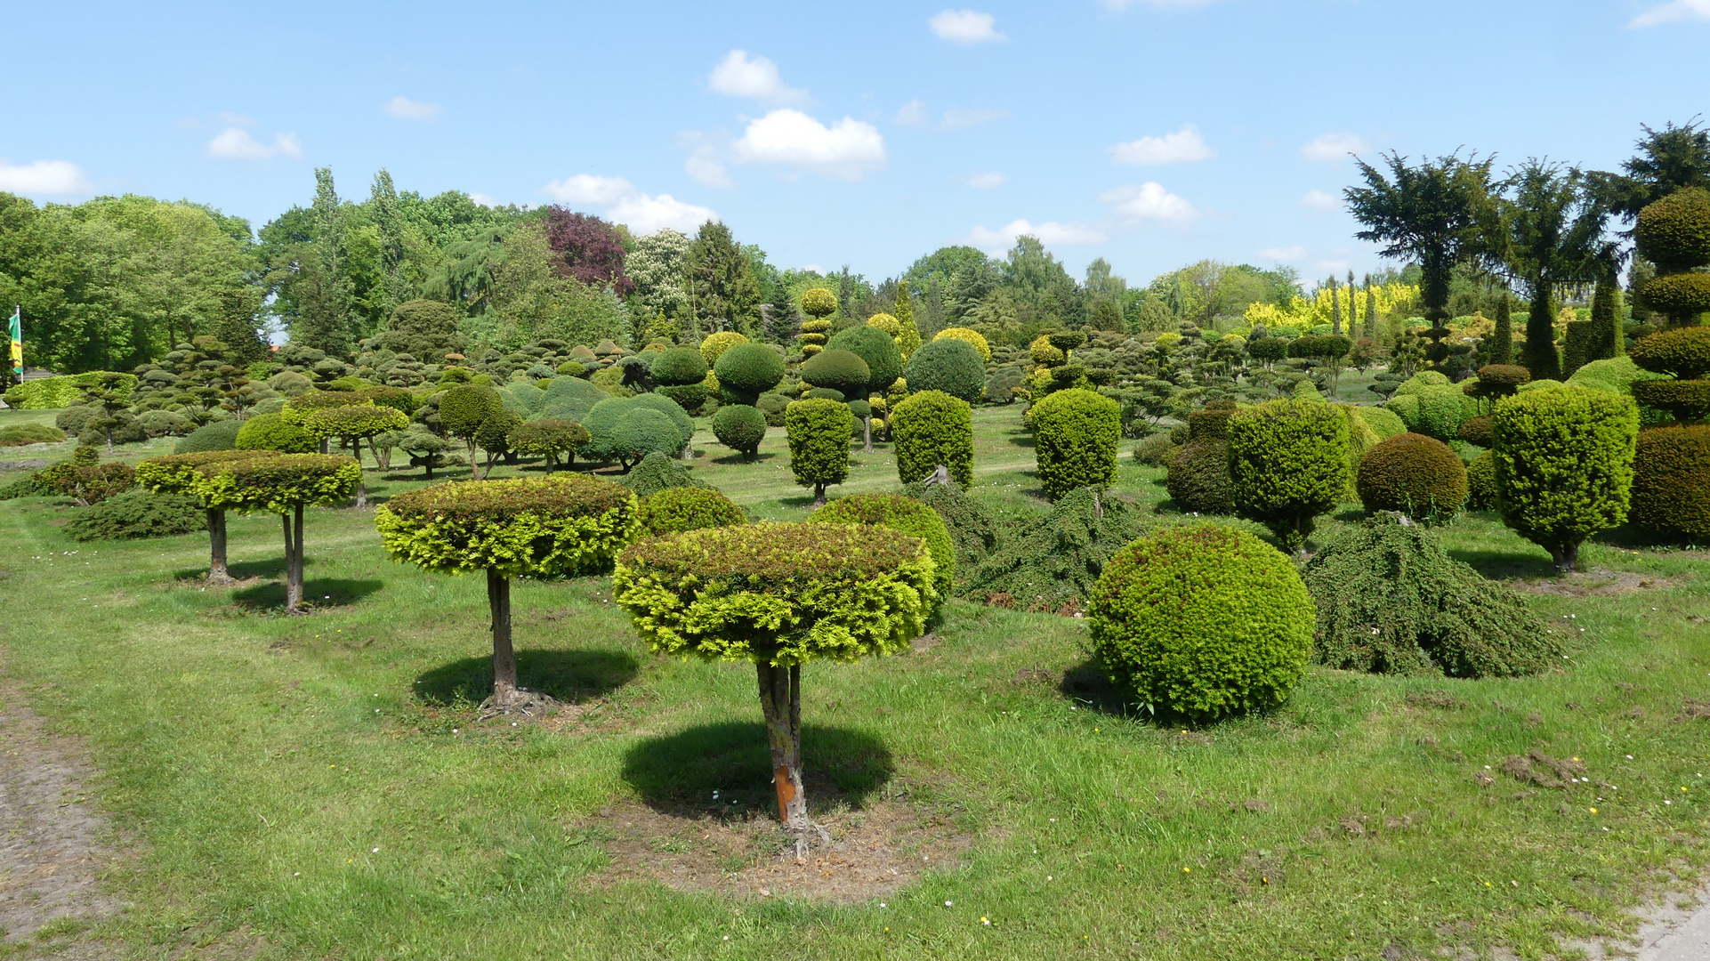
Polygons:
[[[896,773],[891,751],[872,734],[843,727],[802,725],[802,781],[809,811],[845,802],[865,807]],[[648,807],[679,814],[723,804],[773,804],[771,749],[766,725],[723,722],[643,740],[624,756],[624,780]]]

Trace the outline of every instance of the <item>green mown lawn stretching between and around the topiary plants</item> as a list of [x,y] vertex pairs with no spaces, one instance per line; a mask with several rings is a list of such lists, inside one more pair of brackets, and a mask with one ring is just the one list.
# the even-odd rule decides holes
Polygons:
[[[0,424],[14,417],[41,419]],[[771,434],[740,463],[703,431],[696,474],[802,518]],[[975,494],[1041,510],[1019,409],[978,410],[976,443]],[[22,457],[44,455],[0,451]],[[896,484],[886,445],[853,463],[833,496]],[[1118,487],[1156,504],[1159,479],[1123,460]],[[369,491],[416,484],[371,474]],[[711,843],[694,816],[713,790],[723,817],[764,814],[770,776],[752,670],[652,657],[607,581],[518,585],[523,684],[585,713],[513,728],[472,706],[484,581],[390,563],[369,511],[310,511],[310,617],[268,610],[270,515],[231,520],[234,573],[255,580],[226,592],[192,580],[202,535],[75,544],[65,516],[0,508],[3,670],[87,739],[96,797],[135,845],[106,884],[133,906],[10,946],[21,958],[75,939],[137,958],[1546,958],[1558,935],[1630,927],[1626,910],[1707,862],[1701,551],[1589,545],[1585,566],[1642,576],[1529,595],[1575,645],[1549,675],[1315,670],[1274,715],[1206,730],[1113,708],[1081,670],[1081,621],[952,602],[935,646],[804,672],[816,816],[913,819],[930,828],[898,857],[959,852],[896,893],[823,901],[619,870],[634,858],[602,807],[681,826],[643,840],[669,860]],[[1488,515],[1443,537],[1491,576],[1548,571]],[[1587,780],[1503,771],[1532,751]]]

